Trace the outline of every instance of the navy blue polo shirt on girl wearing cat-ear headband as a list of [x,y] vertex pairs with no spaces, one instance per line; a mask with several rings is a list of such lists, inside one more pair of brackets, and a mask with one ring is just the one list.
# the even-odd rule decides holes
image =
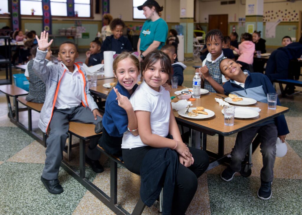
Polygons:
[[[134,85],[133,92],[136,90],[137,86],[137,84]],[[115,86],[115,88],[117,88],[121,95],[130,98],[130,93],[127,89],[120,85],[120,83],[117,82],[117,86]],[[112,89],[106,99],[105,113],[102,123],[110,136],[122,137],[124,132],[128,130],[128,117],[124,108],[118,106],[116,97],[116,93]]]

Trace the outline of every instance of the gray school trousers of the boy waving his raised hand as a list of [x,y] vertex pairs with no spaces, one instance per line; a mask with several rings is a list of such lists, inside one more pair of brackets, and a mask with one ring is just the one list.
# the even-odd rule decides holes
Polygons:
[[[89,108],[82,105],[73,108],[53,110],[53,117],[50,121],[50,133],[46,140],[46,159],[42,176],[45,179],[53,180],[58,178],[59,168],[63,157],[63,149],[68,137],[69,121],[97,124],[102,120],[97,116],[94,119],[93,113]],[[87,156],[92,160],[98,160],[101,152],[96,148],[98,138],[90,140]]]

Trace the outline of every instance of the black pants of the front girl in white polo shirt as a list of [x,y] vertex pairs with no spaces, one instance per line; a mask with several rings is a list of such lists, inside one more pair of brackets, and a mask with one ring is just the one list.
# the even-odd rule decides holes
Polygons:
[[[127,169],[139,175],[143,158],[150,149],[152,149],[150,146],[122,149]],[[197,178],[209,166],[209,156],[205,151],[191,147],[189,149],[194,158],[194,164],[190,167],[179,164],[175,179],[172,214],[185,214],[197,190]]]

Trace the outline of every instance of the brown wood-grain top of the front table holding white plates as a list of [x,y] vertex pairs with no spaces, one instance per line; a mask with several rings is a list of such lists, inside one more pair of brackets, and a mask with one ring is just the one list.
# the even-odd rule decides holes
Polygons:
[[[183,90],[184,87],[179,86],[177,89],[172,89],[170,95],[175,96],[174,92],[178,90]],[[276,116],[279,116],[281,114],[284,114],[289,111],[288,108],[277,106],[276,110],[270,110],[268,109],[268,105],[266,103],[257,102],[253,105],[248,105],[248,107],[258,107],[261,109],[259,116],[249,119],[237,119],[234,120],[234,126],[226,126],[224,125],[224,117],[221,113],[221,110],[223,109],[222,106],[219,106],[218,102],[215,101],[214,98],[220,98],[217,95],[221,95],[218,93],[207,93],[204,95],[201,95],[200,98],[197,98],[195,101],[192,101],[193,106],[202,106],[206,109],[209,109],[211,111],[214,111],[215,115],[213,117],[207,118],[207,119],[190,119],[186,117],[180,116],[177,111],[174,110],[174,115],[176,117],[176,120],[178,122],[184,123],[189,125],[190,127],[194,128],[195,130],[200,131],[207,131],[208,134],[220,134],[223,136],[228,136],[233,133],[239,132],[241,130],[244,130],[246,128],[255,126],[259,123],[262,123],[264,121],[267,121],[269,119],[272,119]],[[226,97],[225,95],[221,95]],[[179,101],[178,98],[174,98],[172,102]],[[243,106],[244,107],[244,106]]]

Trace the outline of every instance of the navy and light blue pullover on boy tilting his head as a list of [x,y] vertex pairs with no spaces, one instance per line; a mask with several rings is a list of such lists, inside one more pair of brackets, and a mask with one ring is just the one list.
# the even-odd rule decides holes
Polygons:
[[[226,82],[223,85],[224,94],[229,95],[231,93],[240,97],[253,98],[256,101],[267,103],[267,94],[276,93],[275,88],[268,77],[262,73],[250,73],[248,70],[244,70],[243,72],[248,74],[245,83],[239,83],[234,80]],[[277,98],[277,105],[281,105],[279,98]],[[283,114],[256,126],[264,126],[269,123],[276,124],[278,135],[286,135],[289,133]]]

